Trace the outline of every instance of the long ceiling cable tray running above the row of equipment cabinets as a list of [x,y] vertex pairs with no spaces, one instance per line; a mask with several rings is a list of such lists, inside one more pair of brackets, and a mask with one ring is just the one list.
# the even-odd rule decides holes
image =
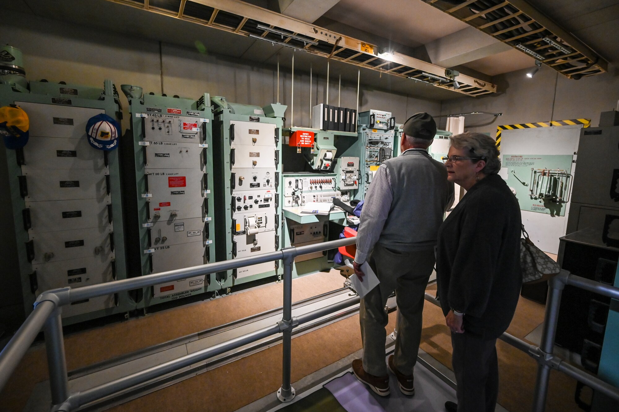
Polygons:
[[[469,96],[495,93],[496,86],[400,53],[379,57],[376,46],[237,0],[108,0],[227,32],[303,49],[337,61],[413,79]],[[272,30],[269,30],[272,29]],[[428,74],[431,74],[428,75]],[[456,80],[456,82],[454,82]]]

